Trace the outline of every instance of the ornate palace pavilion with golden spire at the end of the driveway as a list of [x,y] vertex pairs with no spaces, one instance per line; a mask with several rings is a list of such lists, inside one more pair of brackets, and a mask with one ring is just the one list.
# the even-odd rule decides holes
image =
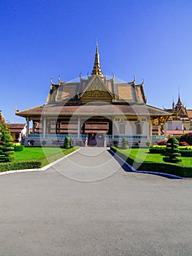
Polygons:
[[[147,105],[143,86],[135,78],[122,82],[114,75],[103,75],[96,45],[91,75],[69,82],[60,77],[58,83],[51,80],[47,103],[17,110],[16,115],[26,118],[25,141],[33,140],[37,145],[42,141],[62,144],[69,136],[72,145],[110,146],[127,138],[130,146],[145,146],[147,140],[156,142],[166,137],[166,121],[171,114]],[[155,136],[153,124],[158,126]]]

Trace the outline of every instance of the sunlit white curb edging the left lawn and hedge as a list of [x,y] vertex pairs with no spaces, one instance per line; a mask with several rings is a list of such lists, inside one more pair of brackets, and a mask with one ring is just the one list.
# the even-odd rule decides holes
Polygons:
[[48,165],[45,165],[45,166],[42,167],[42,168],[37,168],[37,169],[23,169],[23,170],[7,170],[7,171],[5,171],[5,172],[1,172],[1,173],[0,173],[0,176],[1,176],[1,175],[6,175],[6,174],[11,174],[11,173],[42,172],[42,171],[47,170],[48,168],[52,167],[53,165],[57,164],[58,162],[61,162],[64,158],[69,157],[70,155],[76,153],[77,151],[80,151],[80,148],[78,148],[77,150],[73,151],[73,152],[70,153],[70,154],[67,154],[67,155],[64,156],[64,157],[61,157],[61,158],[58,159],[58,160],[55,160],[54,162],[51,162],[51,163],[48,164]]

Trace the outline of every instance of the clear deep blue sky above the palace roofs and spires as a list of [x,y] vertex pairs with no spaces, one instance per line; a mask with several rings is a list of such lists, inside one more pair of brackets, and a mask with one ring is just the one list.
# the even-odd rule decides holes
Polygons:
[[192,109],[191,0],[1,0],[0,110],[24,123],[25,110],[46,102],[50,78],[91,74],[96,39],[101,69],[137,83],[147,104]]

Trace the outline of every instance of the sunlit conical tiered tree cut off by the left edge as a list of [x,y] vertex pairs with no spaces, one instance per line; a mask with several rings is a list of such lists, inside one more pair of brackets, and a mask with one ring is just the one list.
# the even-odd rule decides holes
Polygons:
[[10,162],[14,154],[14,145],[7,124],[0,122],[0,162]]

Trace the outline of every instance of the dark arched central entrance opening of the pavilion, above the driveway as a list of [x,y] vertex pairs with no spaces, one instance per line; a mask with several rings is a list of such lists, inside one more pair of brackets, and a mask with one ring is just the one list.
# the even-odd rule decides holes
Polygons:
[[88,146],[104,146],[106,135],[112,135],[112,121],[103,116],[93,116],[82,124],[82,135],[87,135]]

